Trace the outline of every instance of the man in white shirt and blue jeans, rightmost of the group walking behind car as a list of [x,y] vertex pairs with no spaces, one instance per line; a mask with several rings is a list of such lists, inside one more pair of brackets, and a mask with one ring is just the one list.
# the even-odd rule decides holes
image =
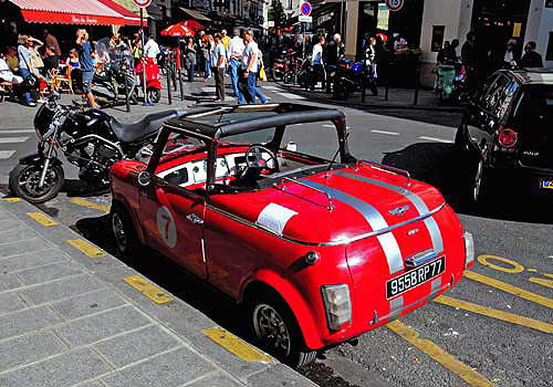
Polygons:
[[258,43],[253,40],[253,31],[246,30],[244,31],[244,43],[246,49],[242,55],[241,63],[241,82],[240,85],[242,87],[241,92],[248,103],[254,104],[255,96],[261,100],[261,103],[267,103],[267,97],[261,93],[261,91],[255,86],[255,81],[258,76]]

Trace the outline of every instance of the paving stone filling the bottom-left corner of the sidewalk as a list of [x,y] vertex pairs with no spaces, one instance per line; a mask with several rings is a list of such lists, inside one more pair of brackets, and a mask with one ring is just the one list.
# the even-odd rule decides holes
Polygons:
[[69,387],[108,370],[91,348],[82,348],[1,375],[0,386]]

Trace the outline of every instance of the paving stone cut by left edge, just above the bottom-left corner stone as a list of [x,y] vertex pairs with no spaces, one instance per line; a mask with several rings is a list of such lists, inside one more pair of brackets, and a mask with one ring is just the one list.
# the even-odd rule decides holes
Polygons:
[[60,341],[50,332],[12,338],[0,343],[0,373],[64,351]]

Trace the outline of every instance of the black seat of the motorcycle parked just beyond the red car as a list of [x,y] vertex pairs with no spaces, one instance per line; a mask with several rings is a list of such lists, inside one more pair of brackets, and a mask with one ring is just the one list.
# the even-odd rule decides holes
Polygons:
[[178,118],[187,112],[165,111],[153,113],[134,124],[122,124],[112,117],[111,124],[113,133],[123,143],[134,143],[161,128],[161,124],[171,118]]

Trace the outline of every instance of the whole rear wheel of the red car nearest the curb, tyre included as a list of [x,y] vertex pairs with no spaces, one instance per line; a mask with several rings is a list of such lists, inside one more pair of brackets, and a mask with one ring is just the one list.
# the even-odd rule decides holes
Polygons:
[[248,316],[255,343],[293,368],[315,360],[316,351],[309,349],[292,311],[282,299],[270,292],[249,302]]

